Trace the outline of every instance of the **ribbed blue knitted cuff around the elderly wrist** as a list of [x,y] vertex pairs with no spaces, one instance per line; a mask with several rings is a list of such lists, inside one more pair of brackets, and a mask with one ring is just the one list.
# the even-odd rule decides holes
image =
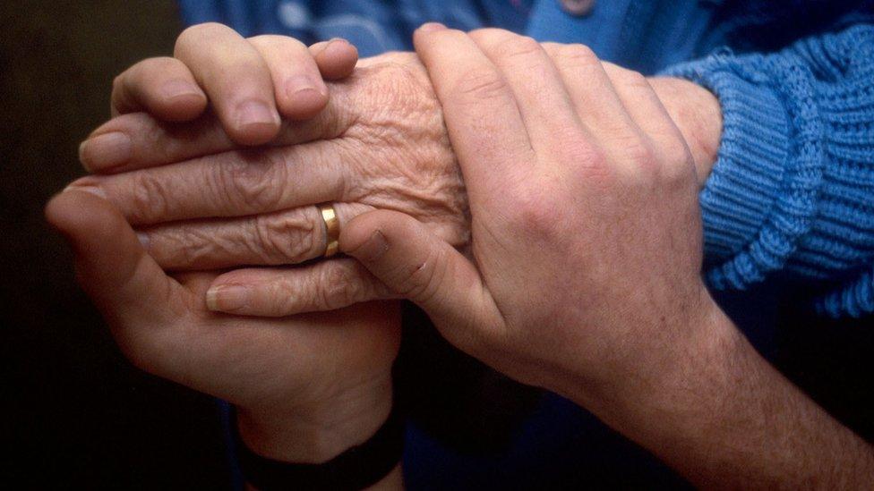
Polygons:
[[790,165],[793,127],[810,114],[789,107],[763,76],[775,67],[761,70],[764,63],[716,54],[666,73],[710,89],[722,106],[719,152],[700,194],[705,255],[715,265],[707,280],[717,289],[741,289],[784,267],[815,211],[821,169]]

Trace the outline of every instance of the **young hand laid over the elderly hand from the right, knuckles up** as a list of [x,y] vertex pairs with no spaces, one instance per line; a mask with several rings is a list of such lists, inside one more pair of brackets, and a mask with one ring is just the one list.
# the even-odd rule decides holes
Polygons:
[[671,377],[717,310],[689,149],[647,80],[582,46],[428,25],[416,50],[467,184],[472,259],[390,211],[341,250],[464,351],[575,398]]

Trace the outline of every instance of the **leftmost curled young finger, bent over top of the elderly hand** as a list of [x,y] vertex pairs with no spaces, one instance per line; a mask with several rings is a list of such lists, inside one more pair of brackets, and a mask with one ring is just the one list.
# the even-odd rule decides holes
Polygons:
[[176,58],[149,58],[113,80],[112,115],[145,111],[162,121],[190,121],[206,108],[192,72]]

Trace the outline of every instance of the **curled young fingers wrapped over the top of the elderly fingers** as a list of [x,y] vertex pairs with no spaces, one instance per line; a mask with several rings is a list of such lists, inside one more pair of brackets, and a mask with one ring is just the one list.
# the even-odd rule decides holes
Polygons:
[[[287,36],[244,39],[222,24],[199,24],[179,35],[173,57],[143,60],[116,77],[112,115],[145,112],[186,122],[209,106],[231,140],[258,145],[276,137],[280,116],[318,114],[328,104],[324,80],[346,78],[357,59],[343,39],[306,47]],[[100,136],[103,145],[82,146],[82,164],[98,172],[124,169],[113,164],[132,149],[129,136]]]

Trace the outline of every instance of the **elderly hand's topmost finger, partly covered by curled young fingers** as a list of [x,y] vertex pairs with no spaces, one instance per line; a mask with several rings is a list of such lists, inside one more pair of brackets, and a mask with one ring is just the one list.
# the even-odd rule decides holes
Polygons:
[[[344,97],[331,97],[328,106],[312,119],[282,123],[272,146],[337,138],[355,121]],[[120,135],[102,138],[104,135]],[[121,139],[121,140],[119,140]],[[121,141],[121,143],[119,143]],[[81,144],[82,164],[92,173],[116,174],[167,165],[189,158],[238,148],[213,114],[185,124],[163,123],[149,114],[124,114],[93,131]]]

